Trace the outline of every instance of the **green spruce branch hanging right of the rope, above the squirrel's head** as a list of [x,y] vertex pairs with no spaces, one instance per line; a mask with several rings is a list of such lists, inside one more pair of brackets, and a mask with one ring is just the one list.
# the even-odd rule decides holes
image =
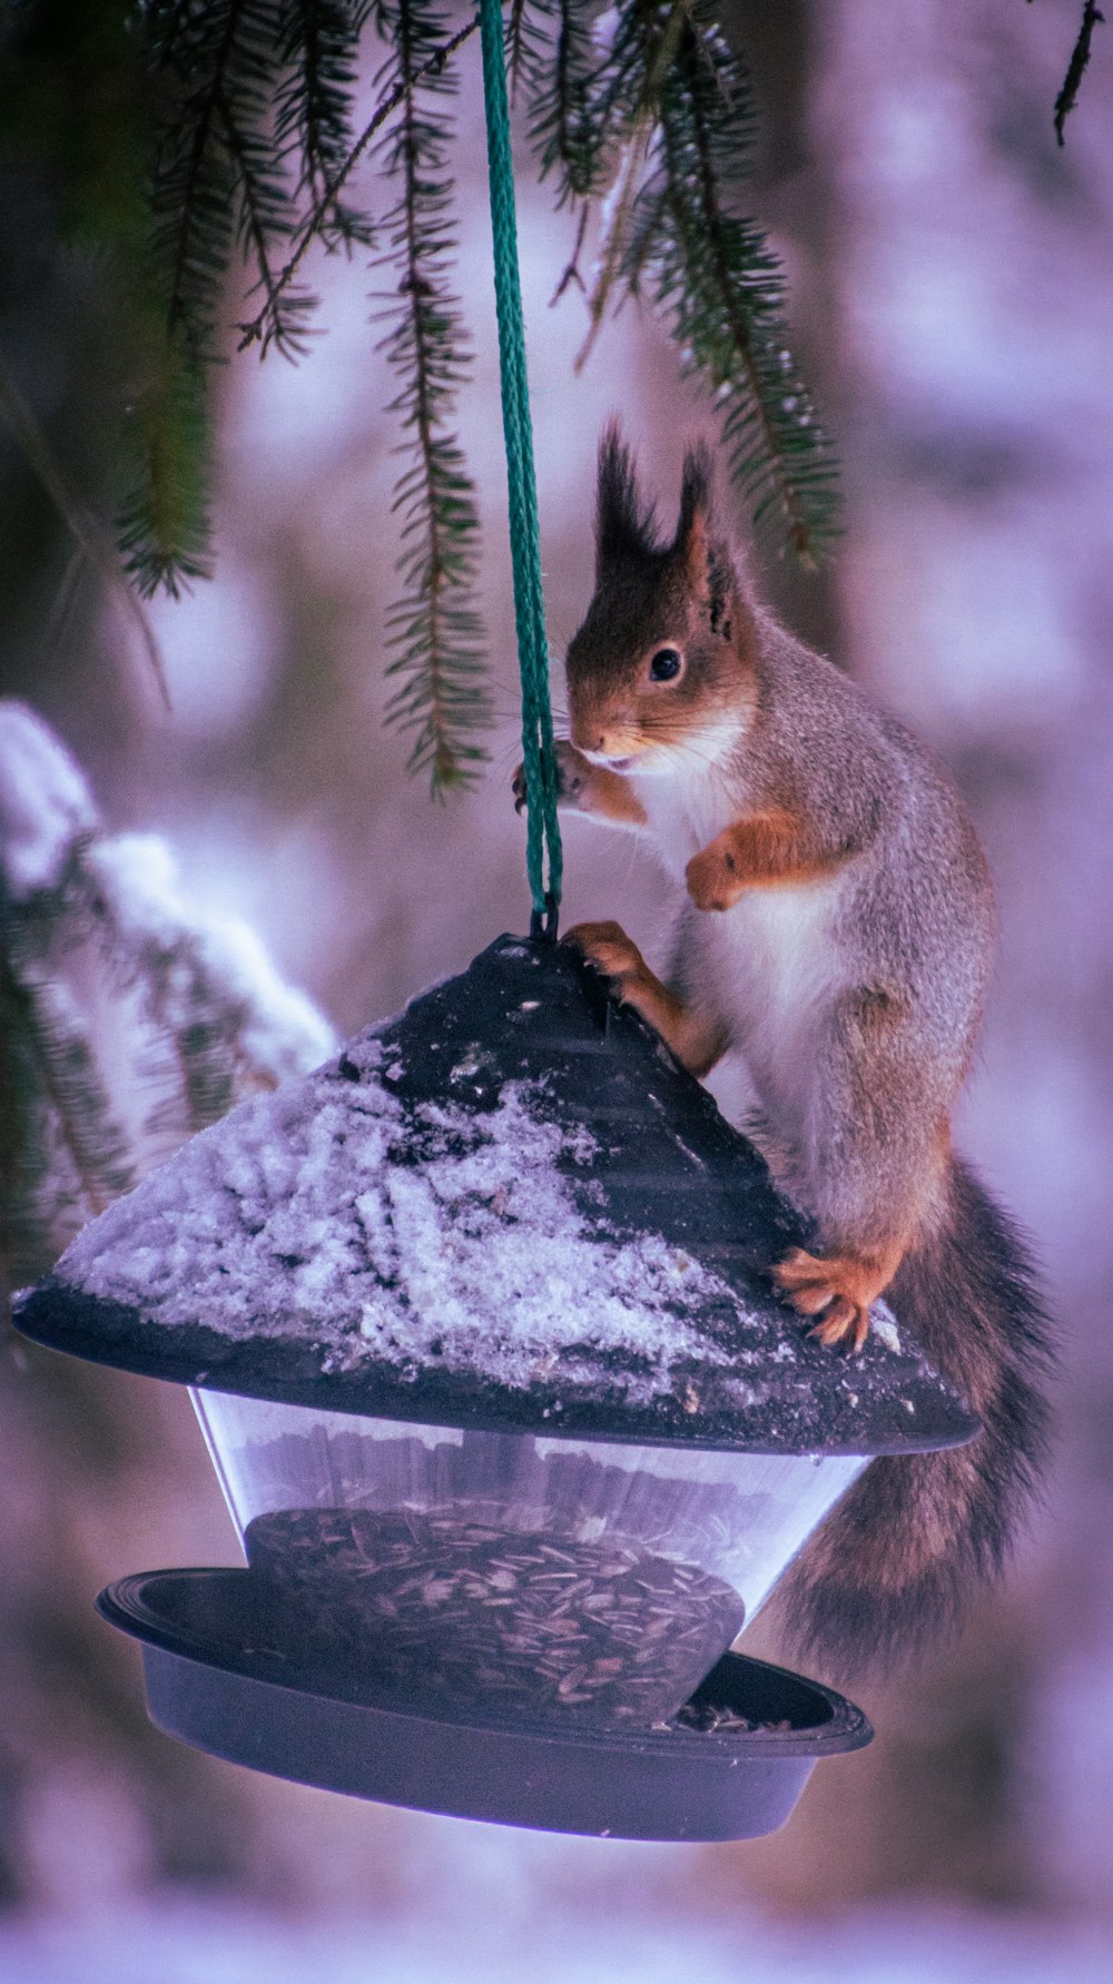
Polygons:
[[[722,405],[732,478],[764,534],[817,563],[835,528],[835,462],[790,353],[784,278],[736,212],[754,137],[742,65],[704,0],[536,0],[548,52],[530,67],[530,135],[557,204],[579,206],[554,302],[585,288],[579,369],[607,315],[649,296],[682,369]],[[587,284],[587,214],[597,222]]]

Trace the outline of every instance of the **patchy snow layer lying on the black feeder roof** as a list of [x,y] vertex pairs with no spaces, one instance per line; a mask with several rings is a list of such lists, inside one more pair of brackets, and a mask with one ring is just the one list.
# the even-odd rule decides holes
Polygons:
[[506,1083],[486,1113],[407,1117],[377,1055],[365,1038],[339,1069],[242,1103],[87,1226],[58,1272],[167,1327],[302,1333],[333,1371],[373,1357],[526,1387],[557,1353],[591,1381],[597,1353],[617,1351],[643,1403],[679,1359],[728,1363],[677,1313],[738,1305],[712,1272],[655,1234],[589,1234],[571,1177],[595,1145],[540,1115],[544,1083]]

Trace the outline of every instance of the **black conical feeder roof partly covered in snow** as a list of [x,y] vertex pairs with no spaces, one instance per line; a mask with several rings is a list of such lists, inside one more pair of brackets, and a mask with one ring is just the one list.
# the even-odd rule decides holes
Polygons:
[[240,1103],[18,1303],[151,1377],[442,1426],[782,1454],[976,1432],[905,1329],[817,1345],[766,1270],[807,1230],[579,956],[502,936]]

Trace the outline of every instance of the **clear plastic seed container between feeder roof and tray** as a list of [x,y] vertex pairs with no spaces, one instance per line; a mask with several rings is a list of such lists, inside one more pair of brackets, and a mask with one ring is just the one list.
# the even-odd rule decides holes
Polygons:
[[867,1464],[192,1401],[308,1661],[595,1726],[669,1720]]

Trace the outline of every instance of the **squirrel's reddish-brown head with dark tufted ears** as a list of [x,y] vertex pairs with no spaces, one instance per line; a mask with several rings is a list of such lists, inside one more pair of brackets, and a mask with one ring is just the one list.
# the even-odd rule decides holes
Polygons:
[[597,764],[671,770],[730,748],[756,696],[752,615],[714,528],[710,454],[684,456],[663,544],[615,425],[599,446],[595,597],[567,649],[571,742]]

